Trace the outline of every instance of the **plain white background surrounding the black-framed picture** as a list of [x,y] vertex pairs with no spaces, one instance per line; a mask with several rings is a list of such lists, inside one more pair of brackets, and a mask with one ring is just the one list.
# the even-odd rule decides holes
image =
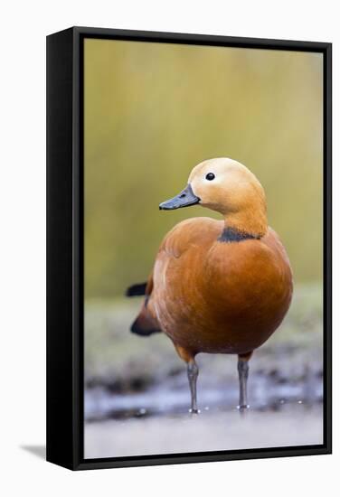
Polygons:
[[[45,35],[71,25],[334,43],[334,189],[339,211],[338,2],[11,1],[0,43],[0,492],[12,495],[310,495],[339,483],[339,318],[334,455],[71,473],[23,448],[45,434]],[[303,185],[301,185],[303,187]],[[308,212],[306,212],[308,215]],[[339,249],[335,230],[335,255]],[[335,261],[335,277],[339,265]],[[338,281],[335,282],[335,299]],[[336,305],[336,300],[335,300]],[[337,315],[336,315],[337,314]]]

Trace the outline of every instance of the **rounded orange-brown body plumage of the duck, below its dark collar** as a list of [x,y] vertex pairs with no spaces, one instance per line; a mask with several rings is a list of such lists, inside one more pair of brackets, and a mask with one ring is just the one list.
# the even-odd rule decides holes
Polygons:
[[258,348],[291,298],[288,259],[276,233],[226,243],[218,241],[222,224],[209,218],[178,224],[156,258],[147,309],[193,355]]

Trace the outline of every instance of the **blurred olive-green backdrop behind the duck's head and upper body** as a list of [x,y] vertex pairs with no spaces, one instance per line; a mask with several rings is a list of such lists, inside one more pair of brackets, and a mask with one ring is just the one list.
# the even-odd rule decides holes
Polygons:
[[322,55],[85,40],[85,296],[149,274],[176,222],[158,211],[195,164],[229,156],[265,188],[295,281],[322,278]]

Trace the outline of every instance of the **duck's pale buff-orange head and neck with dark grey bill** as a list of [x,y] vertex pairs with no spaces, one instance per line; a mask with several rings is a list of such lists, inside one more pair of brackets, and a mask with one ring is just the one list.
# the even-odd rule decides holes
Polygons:
[[173,210],[199,204],[220,212],[225,225],[256,237],[268,228],[264,190],[250,170],[228,158],[197,164],[186,188],[174,198],[162,202],[161,210]]

